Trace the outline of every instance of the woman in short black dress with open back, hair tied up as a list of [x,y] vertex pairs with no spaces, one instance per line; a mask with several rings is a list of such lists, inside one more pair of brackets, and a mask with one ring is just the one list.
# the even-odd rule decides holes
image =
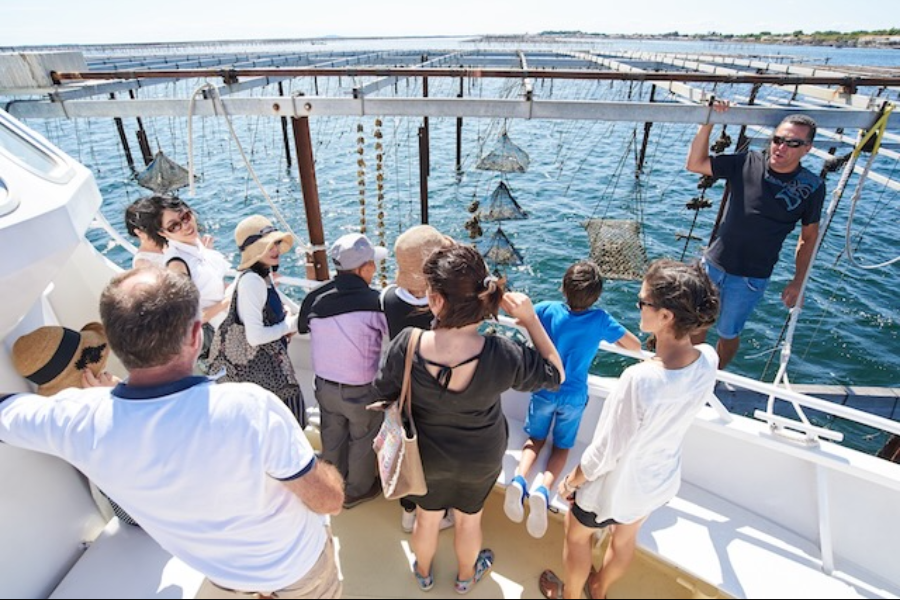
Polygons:
[[[510,389],[555,389],[564,379],[562,361],[534,313],[528,296],[504,293],[472,246],[435,251],[423,268],[432,331],[422,333],[412,369],[413,418],[428,484],[417,506],[412,546],[419,587],[434,585],[432,562],[445,509],[456,520],[456,591],[464,594],[490,571],[494,555],[481,549],[484,502],[500,474],[507,446],[500,395]],[[525,328],[534,347],[478,327],[502,308]],[[411,329],[391,343],[375,385],[382,396],[399,396]]]

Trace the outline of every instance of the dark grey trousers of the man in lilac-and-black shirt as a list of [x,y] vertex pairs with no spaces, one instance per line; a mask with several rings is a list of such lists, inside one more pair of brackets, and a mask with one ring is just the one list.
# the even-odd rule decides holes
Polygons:
[[371,490],[377,477],[372,441],[384,413],[366,410],[366,405],[376,399],[371,385],[346,385],[316,377],[316,400],[322,414],[322,459],[343,475],[347,499]]

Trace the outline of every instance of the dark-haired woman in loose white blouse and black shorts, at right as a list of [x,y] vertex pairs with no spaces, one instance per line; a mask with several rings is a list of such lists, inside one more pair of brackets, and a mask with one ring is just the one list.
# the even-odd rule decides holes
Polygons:
[[[718,357],[691,343],[719,312],[716,289],[699,263],[658,260],[637,299],[641,331],[656,337],[656,355],[625,369],[603,404],[580,464],[559,484],[568,498],[563,548],[565,583],[541,574],[546,598],[606,598],[634,558],[638,530],[681,484],[684,435],[716,383]],[[592,571],[594,533],[612,536],[603,566]]]

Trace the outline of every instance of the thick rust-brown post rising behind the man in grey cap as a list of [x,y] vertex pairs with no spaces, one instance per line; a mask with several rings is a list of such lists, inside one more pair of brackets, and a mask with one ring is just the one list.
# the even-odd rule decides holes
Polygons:
[[322,247],[325,245],[325,229],[322,227],[322,211],[319,208],[319,188],[316,184],[316,165],[313,162],[312,138],[309,133],[309,117],[291,117],[294,129],[294,144],[297,150],[297,168],[300,170],[300,189],[303,191],[303,206],[306,209],[306,226],[312,255],[307,255],[306,277],[316,281],[328,279],[328,258]]

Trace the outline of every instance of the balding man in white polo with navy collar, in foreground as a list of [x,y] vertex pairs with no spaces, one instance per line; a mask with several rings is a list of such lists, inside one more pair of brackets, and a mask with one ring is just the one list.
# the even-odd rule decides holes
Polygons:
[[207,577],[198,598],[340,597],[327,516],[341,511],[340,474],[276,396],[193,375],[199,300],[190,279],[159,267],[115,276],[100,316],[127,381],[0,394],[0,441],[95,481]]

